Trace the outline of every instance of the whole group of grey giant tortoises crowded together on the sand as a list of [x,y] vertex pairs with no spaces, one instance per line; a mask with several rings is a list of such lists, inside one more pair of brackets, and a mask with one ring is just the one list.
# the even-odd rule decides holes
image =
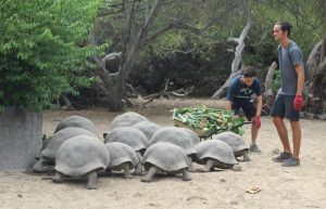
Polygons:
[[[93,123],[82,116],[70,116],[57,126],[52,136],[43,141],[35,172],[55,174],[53,182],[67,178],[87,178],[87,187],[97,188],[98,173],[123,171],[126,179],[142,175],[151,182],[155,173],[209,172],[214,168],[241,170],[237,157],[250,160],[243,139],[224,132],[212,140],[200,141],[190,129],[161,127],[145,116],[127,112],[116,116],[103,140]],[[203,165],[195,170],[192,162]]]

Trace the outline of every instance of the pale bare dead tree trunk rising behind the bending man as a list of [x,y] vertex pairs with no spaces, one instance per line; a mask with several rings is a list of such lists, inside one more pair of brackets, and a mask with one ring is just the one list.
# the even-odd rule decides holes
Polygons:
[[235,58],[231,63],[231,74],[228,77],[228,79],[226,80],[226,82],[213,94],[212,99],[222,99],[226,95],[227,92],[227,88],[229,86],[230,80],[240,74],[239,71],[239,66],[242,62],[242,51],[244,49],[244,39],[248,36],[250,28],[252,25],[252,21],[251,21],[251,16],[248,14],[248,19],[247,19],[247,24],[246,27],[243,28],[241,35],[239,38],[231,38],[229,39],[230,41],[235,41],[238,43],[237,48],[236,48],[236,52],[235,52]]

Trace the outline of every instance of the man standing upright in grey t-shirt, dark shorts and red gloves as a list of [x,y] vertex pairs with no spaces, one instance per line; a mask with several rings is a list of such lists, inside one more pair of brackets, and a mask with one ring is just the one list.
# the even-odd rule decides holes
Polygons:
[[[300,109],[303,106],[302,91],[304,84],[304,69],[302,53],[299,47],[290,40],[291,24],[278,21],[274,25],[274,37],[278,45],[278,62],[280,69],[281,87],[278,90],[271,109],[273,122],[280,138],[284,152],[273,158],[283,162],[281,166],[299,166],[299,153],[301,144],[301,129],[299,125]],[[293,153],[289,144],[287,128],[284,118],[290,120],[293,140]]]

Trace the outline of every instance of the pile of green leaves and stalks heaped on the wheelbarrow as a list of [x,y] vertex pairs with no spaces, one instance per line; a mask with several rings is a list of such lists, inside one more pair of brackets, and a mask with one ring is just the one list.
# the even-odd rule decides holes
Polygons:
[[183,122],[192,130],[203,131],[205,136],[224,131],[233,131],[237,134],[244,133],[239,126],[244,122],[244,119],[235,118],[234,112],[225,109],[206,108],[205,106],[180,107],[173,110],[173,119]]

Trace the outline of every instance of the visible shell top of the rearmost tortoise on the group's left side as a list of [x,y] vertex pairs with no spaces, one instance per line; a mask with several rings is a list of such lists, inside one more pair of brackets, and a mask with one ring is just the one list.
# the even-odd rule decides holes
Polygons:
[[100,139],[99,131],[97,128],[93,126],[92,121],[90,121],[88,118],[85,118],[83,116],[70,116],[64,119],[62,119],[58,125],[54,130],[54,133],[65,129],[67,127],[77,127],[82,129],[86,129],[97,135],[97,138]]

